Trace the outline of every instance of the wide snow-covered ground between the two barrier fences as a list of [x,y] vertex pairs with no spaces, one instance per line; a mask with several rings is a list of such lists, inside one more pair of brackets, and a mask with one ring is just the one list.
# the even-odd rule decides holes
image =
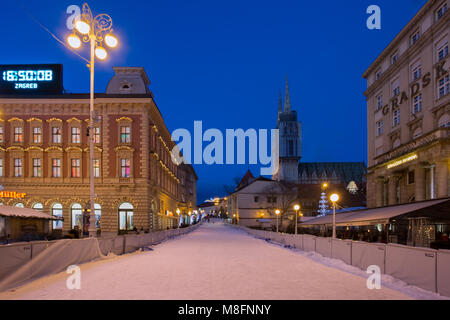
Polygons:
[[137,252],[81,265],[81,289],[64,272],[0,293],[0,299],[439,299],[315,253],[283,248],[221,223]]

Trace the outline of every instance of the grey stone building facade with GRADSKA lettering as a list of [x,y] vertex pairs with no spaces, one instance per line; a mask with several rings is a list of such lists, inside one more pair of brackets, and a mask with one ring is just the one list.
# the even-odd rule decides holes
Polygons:
[[450,195],[448,7],[428,1],[363,74],[368,207]]

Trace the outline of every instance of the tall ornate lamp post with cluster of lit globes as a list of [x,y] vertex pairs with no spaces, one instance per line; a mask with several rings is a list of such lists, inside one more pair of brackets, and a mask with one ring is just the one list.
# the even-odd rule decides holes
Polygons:
[[[81,35],[81,39],[80,36]],[[80,16],[75,19],[74,32],[67,37],[69,45],[78,49],[82,42],[90,43],[90,63],[88,65],[91,73],[90,83],[90,112],[89,112],[89,201],[90,201],[90,218],[89,218],[89,237],[97,235],[95,227],[95,192],[94,192],[94,66],[95,57],[105,60],[108,53],[102,47],[102,42],[110,48],[117,47],[118,41],[112,35],[112,19],[109,15],[102,13],[97,16],[92,15],[92,11],[88,4],[83,4]]]

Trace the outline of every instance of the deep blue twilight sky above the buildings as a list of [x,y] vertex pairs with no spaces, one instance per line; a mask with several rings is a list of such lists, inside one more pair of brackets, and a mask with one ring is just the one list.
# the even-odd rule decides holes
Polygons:
[[[144,66],[172,132],[273,128],[278,91],[289,74],[291,102],[303,122],[302,161],[366,161],[365,81],[361,75],[425,0],[95,0],[109,13],[121,46],[96,66],[104,92],[112,66]],[[66,8],[81,2],[25,1],[64,38]],[[381,30],[366,28],[366,8],[381,8]],[[62,63],[64,87],[88,92],[83,61],[19,6],[2,1],[0,63]],[[87,56],[87,53],[84,52]],[[223,194],[248,165],[196,165],[199,201]],[[257,167],[251,167],[259,174]]]

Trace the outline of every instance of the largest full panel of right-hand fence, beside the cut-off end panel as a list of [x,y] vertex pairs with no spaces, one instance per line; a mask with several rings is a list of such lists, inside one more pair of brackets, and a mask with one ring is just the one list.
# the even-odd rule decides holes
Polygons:
[[386,273],[436,292],[436,256],[437,251],[433,249],[390,243],[386,246]]

